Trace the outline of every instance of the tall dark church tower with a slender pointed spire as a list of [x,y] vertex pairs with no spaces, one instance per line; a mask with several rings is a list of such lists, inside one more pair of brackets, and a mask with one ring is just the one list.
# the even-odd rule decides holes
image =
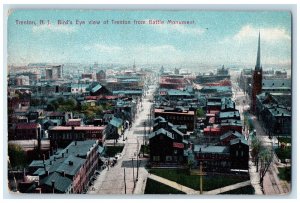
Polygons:
[[260,61],[260,33],[259,33],[256,65],[252,77],[252,95],[251,95],[252,112],[256,112],[256,95],[260,94],[261,90],[262,90],[262,66]]

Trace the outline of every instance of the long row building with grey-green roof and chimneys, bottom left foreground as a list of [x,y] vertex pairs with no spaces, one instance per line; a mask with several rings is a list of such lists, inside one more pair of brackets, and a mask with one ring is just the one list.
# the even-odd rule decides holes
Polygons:
[[29,165],[30,175],[38,180],[31,193],[83,193],[99,166],[98,141],[74,141],[64,150]]

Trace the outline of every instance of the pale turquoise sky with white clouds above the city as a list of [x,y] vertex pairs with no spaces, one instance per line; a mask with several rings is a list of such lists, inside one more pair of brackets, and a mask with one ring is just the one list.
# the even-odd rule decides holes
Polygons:
[[[134,20],[165,24],[133,24]],[[35,21],[20,25],[16,21]],[[50,22],[40,24],[40,20]],[[58,20],[73,24],[58,25]],[[85,25],[76,24],[85,21]],[[100,21],[90,25],[90,20]],[[108,20],[108,24],[104,21]],[[127,20],[131,24],[112,24]],[[190,25],[168,20],[194,21]],[[280,11],[14,10],[8,17],[8,64],[121,63],[291,64],[291,15]]]

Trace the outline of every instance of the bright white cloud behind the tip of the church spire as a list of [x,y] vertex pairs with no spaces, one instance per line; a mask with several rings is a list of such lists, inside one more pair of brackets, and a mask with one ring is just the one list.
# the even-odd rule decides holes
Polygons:
[[246,41],[257,39],[258,32],[261,34],[261,40],[265,42],[278,42],[283,40],[291,40],[291,36],[282,28],[255,28],[252,25],[243,26],[237,34],[233,36],[233,40]]

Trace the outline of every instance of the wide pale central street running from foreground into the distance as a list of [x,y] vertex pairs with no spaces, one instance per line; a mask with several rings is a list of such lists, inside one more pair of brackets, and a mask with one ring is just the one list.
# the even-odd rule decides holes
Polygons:
[[[142,101],[142,106],[139,105],[138,113],[135,122],[130,130],[124,134],[123,138],[118,140],[119,143],[124,143],[124,149],[121,157],[118,159],[114,167],[104,169],[98,176],[94,185],[89,188],[88,194],[142,194],[145,188],[145,180],[147,171],[144,166],[147,163],[145,158],[137,158],[141,144],[143,144],[144,121],[147,121],[150,112],[151,104],[148,98],[153,94],[149,94]],[[148,131],[148,127],[146,127]],[[137,159],[139,170],[137,174]],[[133,160],[133,161],[132,161]],[[125,169],[125,173],[124,173]],[[124,177],[125,174],[125,177]],[[138,177],[137,177],[138,176]],[[125,180],[124,180],[125,179]],[[138,180],[136,182],[136,180]],[[135,187],[136,184],[136,187]],[[126,189],[125,189],[126,188]]]

